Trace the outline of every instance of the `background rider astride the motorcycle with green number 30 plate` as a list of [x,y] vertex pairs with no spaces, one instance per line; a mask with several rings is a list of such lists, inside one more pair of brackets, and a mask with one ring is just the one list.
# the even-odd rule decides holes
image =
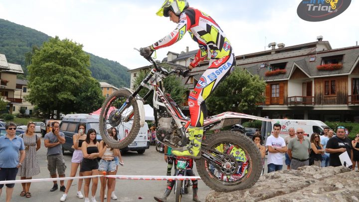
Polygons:
[[[165,153],[165,158],[166,158],[166,156],[167,155]],[[195,176],[194,173],[193,173],[193,159],[185,158],[185,157],[177,157],[177,158],[175,158],[175,165],[177,165],[178,159],[180,159],[180,160],[185,159],[186,162],[187,162],[186,176]],[[176,176],[176,173],[175,173],[175,176]],[[193,187],[192,187],[193,198],[192,199],[193,199],[194,202],[200,202],[199,199],[198,199],[198,195],[197,195],[197,192],[198,192],[197,183],[198,183],[198,181],[197,180],[191,180],[191,181],[192,181],[192,184],[193,184]],[[176,183],[175,180],[170,181],[170,184],[167,185],[165,194],[162,197],[154,197],[154,199],[156,201],[158,201],[158,202],[167,202],[167,197],[171,194],[172,188],[174,187],[175,183]]]

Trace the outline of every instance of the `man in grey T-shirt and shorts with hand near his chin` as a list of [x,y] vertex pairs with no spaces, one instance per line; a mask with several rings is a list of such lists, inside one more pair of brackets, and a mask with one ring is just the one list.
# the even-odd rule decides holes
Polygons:
[[[52,122],[52,131],[47,133],[44,138],[45,147],[47,148],[47,169],[50,172],[51,178],[65,177],[65,160],[62,155],[62,144],[65,143],[65,135],[60,132],[60,124],[57,121]],[[53,187],[50,192],[58,189],[57,181],[53,181]],[[65,192],[64,181],[60,180],[60,191]]]

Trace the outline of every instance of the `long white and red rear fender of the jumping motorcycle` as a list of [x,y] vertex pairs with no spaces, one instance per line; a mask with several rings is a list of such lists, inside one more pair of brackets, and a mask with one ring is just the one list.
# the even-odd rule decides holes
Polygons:
[[253,119],[253,120],[266,121],[266,122],[272,121],[272,119],[267,119],[259,116],[252,116],[252,115],[242,114],[237,112],[224,112],[204,119],[203,127],[204,130],[216,130],[223,128],[225,126],[238,124],[241,119]]

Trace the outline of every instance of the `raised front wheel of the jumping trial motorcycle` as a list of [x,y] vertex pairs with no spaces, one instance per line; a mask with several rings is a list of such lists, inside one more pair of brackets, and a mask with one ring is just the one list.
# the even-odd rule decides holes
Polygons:
[[[127,89],[113,92],[102,105],[99,125],[102,140],[111,148],[122,149],[132,143],[140,131],[140,115],[136,99],[127,105],[126,100],[132,93]],[[117,109],[124,106],[120,114]],[[111,127],[117,130],[118,141],[108,135]]]

